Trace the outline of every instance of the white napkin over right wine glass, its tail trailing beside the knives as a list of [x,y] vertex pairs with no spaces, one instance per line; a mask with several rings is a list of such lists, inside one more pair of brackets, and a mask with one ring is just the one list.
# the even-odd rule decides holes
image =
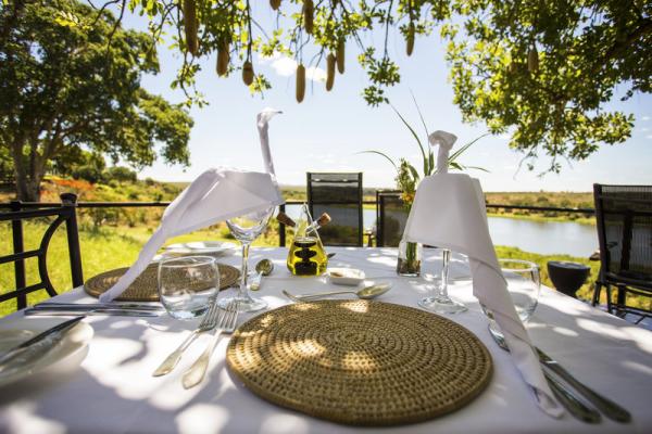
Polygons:
[[511,357],[525,382],[531,386],[539,407],[559,418],[564,410],[543,378],[527,330],[507,293],[489,237],[480,183],[464,174],[448,174],[449,151],[456,139],[446,131],[430,135],[430,144],[439,144],[437,174],[424,178],[419,183],[403,238],[468,256],[473,294],[493,311],[510,346]]

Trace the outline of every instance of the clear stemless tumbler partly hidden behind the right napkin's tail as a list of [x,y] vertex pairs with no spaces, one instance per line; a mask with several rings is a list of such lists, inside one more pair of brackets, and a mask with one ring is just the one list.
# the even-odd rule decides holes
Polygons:
[[[541,279],[539,266],[535,263],[521,259],[499,259],[501,271],[507,282],[507,292],[516,308],[516,314],[523,323],[531,318],[539,304]],[[489,318],[489,329],[492,333],[502,336],[500,328],[493,319],[493,312],[484,305],[482,311]]]

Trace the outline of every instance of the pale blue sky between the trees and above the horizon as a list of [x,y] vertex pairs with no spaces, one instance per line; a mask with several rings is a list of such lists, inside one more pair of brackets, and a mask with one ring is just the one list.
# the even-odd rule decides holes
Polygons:
[[[266,2],[261,2],[259,9],[263,22],[272,20]],[[143,28],[136,16],[127,16],[125,26]],[[367,42],[378,43],[380,38],[380,35],[369,35]],[[389,49],[402,76],[401,84],[389,90],[389,98],[411,124],[421,125],[410,94],[412,90],[430,131],[453,132],[459,137],[459,145],[485,132],[481,124],[462,123],[461,113],[452,102],[444,43],[438,35],[417,39],[411,58],[404,54],[404,41],[400,36],[390,36]],[[197,86],[209,105],[191,110],[195,128],[189,143],[190,166],[167,166],[160,162],[142,170],[140,177],[190,181],[214,166],[262,170],[255,114],[271,106],[284,112],[269,127],[280,183],[304,184],[306,171],[363,171],[365,187],[393,187],[394,173],[387,161],[358,153],[374,149],[394,158],[404,156],[418,163],[419,151],[389,106],[369,107],[363,101],[360,94],[366,76],[358,65],[356,55],[351,46],[347,52],[346,73],[337,75],[330,92],[326,92],[324,82],[309,81],[301,104],[294,100],[292,61],[288,59],[254,60],[254,69],[265,73],[273,85],[273,89],[262,97],[250,94],[239,72],[228,78],[217,77],[215,54],[202,59],[203,72]],[[159,58],[161,74],[146,76],[143,87],[170,101],[181,101],[183,94],[170,88],[180,62],[178,54],[159,47]],[[488,174],[472,171],[480,179],[485,191],[589,191],[593,182],[652,183],[652,95],[636,94],[627,102],[617,101],[607,108],[612,107],[635,114],[632,137],[622,144],[602,146],[587,161],[574,162],[570,166],[564,163],[560,175],[537,176],[547,167],[543,157],[539,162],[539,171],[528,171],[525,167],[517,171],[522,155],[507,148],[507,137],[484,138],[460,161],[489,170]]]

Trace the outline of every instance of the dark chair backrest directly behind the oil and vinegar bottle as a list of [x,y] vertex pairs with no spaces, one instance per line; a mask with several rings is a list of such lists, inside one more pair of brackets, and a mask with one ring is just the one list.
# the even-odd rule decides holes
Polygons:
[[313,218],[328,213],[333,221],[319,230],[326,245],[362,246],[362,173],[306,174],[308,205]]

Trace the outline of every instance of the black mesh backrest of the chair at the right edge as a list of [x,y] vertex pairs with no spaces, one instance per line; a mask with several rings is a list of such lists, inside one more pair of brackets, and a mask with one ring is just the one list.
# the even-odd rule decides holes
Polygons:
[[601,279],[652,288],[652,186],[593,184]]

